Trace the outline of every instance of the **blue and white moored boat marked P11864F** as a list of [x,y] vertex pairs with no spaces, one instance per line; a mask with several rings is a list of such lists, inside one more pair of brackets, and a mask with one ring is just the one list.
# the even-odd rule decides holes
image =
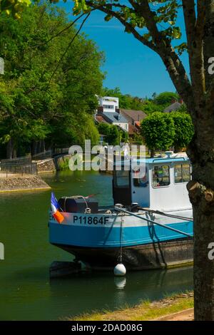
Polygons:
[[193,210],[186,189],[190,161],[148,158],[143,176],[122,160],[113,170],[112,206],[93,197],[61,197],[62,222],[49,215],[49,241],[91,269],[160,269],[193,262]]

